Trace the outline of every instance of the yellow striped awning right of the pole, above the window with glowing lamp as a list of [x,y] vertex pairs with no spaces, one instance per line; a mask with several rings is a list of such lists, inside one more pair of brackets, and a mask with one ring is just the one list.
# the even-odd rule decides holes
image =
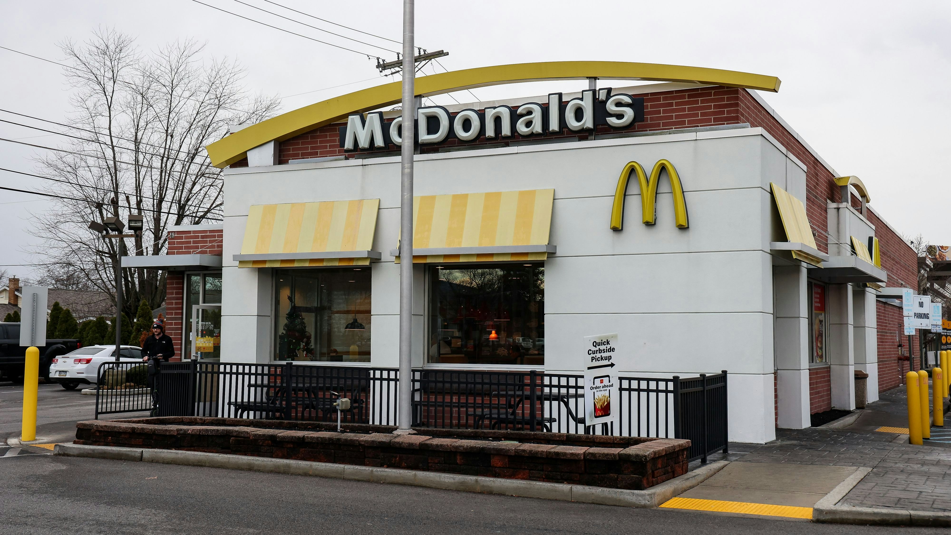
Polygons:
[[414,197],[413,262],[545,260],[553,200],[554,189]]

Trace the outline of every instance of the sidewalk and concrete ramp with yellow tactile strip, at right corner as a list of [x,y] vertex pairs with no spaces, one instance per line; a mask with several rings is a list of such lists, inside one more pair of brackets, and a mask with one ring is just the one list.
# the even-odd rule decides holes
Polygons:
[[815,507],[812,518],[827,522],[851,514],[859,523],[951,525],[951,421],[947,430],[932,427],[935,440],[924,446],[909,445],[905,427],[905,391],[895,388],[838,425],[777,429],[766,445],[730,445],[726,459],[711,457],[732,461],[727,468],[666,506],[791,518]]

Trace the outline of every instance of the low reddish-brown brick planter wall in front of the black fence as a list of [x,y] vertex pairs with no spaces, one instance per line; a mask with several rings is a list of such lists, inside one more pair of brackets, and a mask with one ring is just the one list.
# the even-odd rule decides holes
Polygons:
[[[690,441],[529,431],[336,426],[223,418],[76,425],[75,444],[183,449],[340,465],[386,466],[550,483],[644,489],[687,473]],[[516,442],[501,442],[516,441]]]

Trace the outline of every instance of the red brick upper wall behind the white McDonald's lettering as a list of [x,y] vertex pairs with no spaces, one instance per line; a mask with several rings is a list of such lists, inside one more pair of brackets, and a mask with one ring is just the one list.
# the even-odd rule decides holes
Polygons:
[[[738,101],[739,89],[731,88],[698,88],[681,89],[677,91],[663,91],[635,95],[644,97],[644,118],[642,123],[635,124],[631,129],[615,130],[607,126],[598,127],[598,133],[612,133],[622,131],[648,131],[689,129],[695,127],[712,127],[730,125],[742,122],[739,116]],[[543,104],[543,108],[548,106]],[[322,158],[326,156],[340,156],[344,154],[340,148],[341,124],[328,125],[314,129],[299,136],[281,142],[280,163],[286,164],[290,160],[300,158]],[[568,132],[568,130],[565,130]],[[560,136],[544,136],[544,139],[558,137],[579,136],[587,139],[587,134],[576,132],[564,133]],[[519,139],[520,140],[520,139]],[[457,139],[450,139],[439,147],[455,145],[495,145],[497,139],[480,138],[476,142],[463,143]],[[436,151],[438,148],[425,148],[423,152]],[[396,155],[398,150],[392,152]],[[232,167],[239,167],[235,164]]]

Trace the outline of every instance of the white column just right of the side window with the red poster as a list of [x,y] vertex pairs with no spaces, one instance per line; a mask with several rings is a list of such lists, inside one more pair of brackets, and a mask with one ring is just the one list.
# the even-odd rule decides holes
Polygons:
[[828,285],[828,362],[832,408],[855,408],[855,338],[851,285]]

